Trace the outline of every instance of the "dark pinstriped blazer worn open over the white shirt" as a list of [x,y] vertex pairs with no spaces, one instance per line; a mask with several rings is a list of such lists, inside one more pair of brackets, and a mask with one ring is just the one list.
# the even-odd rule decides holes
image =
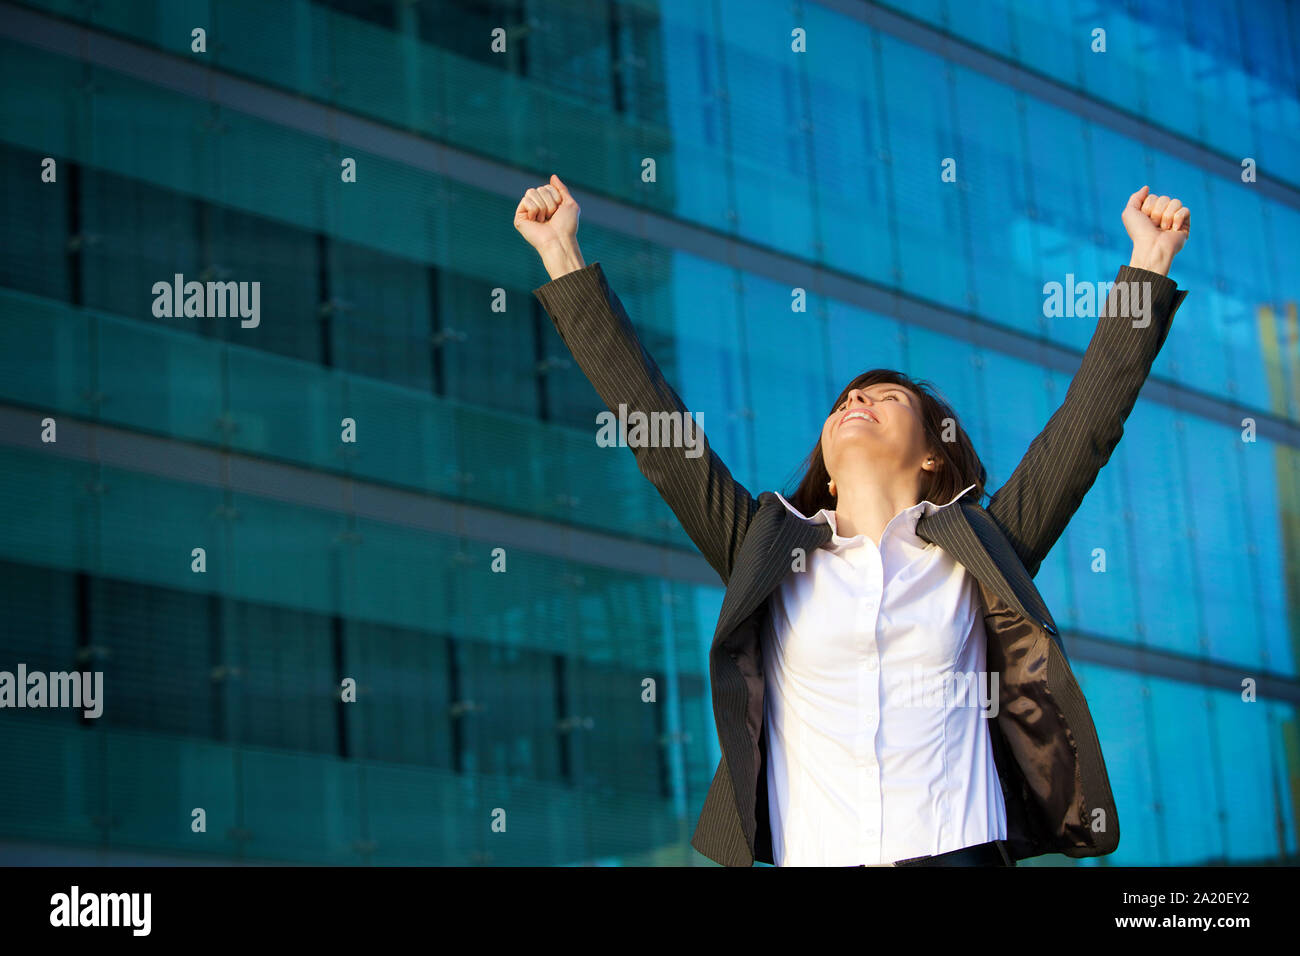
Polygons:
[[[975,575],[984,604],[988,667],[998,672],[993,757],[1014,860],[1041,853],[1101,856],[1119,844],[1119,817],[1088,705],[1070,670],[1034,576],[1123,434],[1186,291],[1154,272],[1121,267],[1121,282],[1149,282],[1149,323],[1113,289],[1065,402],[1030,444],[988,509],[965,498],[924,515],[916,533]],[[534,289],[582,372],[618,412],[680,412],[677,393],[637,339],[599,263]],[[818,425],[819,423],[810,423]],[[697,441],[702,441],[702,436]],[[727,866],[772,862],[767,816],[763,661],[768,596],[831,536],[790,514],[771,492],[758,498],[705,444],[634,447],[637,466],[681,522],[727,591],[708,654],[722,760],[692,845]]]

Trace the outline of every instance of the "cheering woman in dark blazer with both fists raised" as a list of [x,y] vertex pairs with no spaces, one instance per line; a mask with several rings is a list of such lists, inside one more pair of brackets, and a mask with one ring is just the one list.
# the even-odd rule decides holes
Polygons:
[[[988,509],[957,415],[888,369],[838,395],[790,499],[753,498],[703,436],[693,454],[628,442],[727,585],[710,650],[723,756],[692,845],[738,866],[1115,849],[1092,717],[1031,579],[1187,294],[1167,273],[1190,217],[1145,186],[1128,198],[1132,258],[1065,402]],[[551,276],[534,295],[611,410],[689,420],[599,264],[584,263],[577,220],[558,176],[520,200],[515,228]]]

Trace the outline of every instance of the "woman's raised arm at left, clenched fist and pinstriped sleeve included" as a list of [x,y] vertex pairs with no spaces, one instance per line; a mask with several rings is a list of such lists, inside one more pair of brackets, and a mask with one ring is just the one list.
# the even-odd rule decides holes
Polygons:
[[642,347],[601,264],[584,264],[576,238],[578,212],[573,196],[554,174],[550,183],[529,189],[520,200],[515,228],[538,251],[551,277],[533,295],[610,411],[619,415],[619,406],[624,406],[628,420],[633,412],[642,412],[650,423],[673,420],[654,418],[656,412],[676,414],[684,438],[693,427],[689,447],[638,444],[632,450],[641,473],[668,502],[725,584],[757,503],[710,447]]

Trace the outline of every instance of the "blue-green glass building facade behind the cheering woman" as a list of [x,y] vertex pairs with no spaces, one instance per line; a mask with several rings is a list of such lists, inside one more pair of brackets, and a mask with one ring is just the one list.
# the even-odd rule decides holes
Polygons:
[[1191,207],[1036,578],[1123,836],[1022,865],[1296,862],[1297,51],[1282,0],[0,3],[0,671],[104,680],[0,710],[0,860],[711,865],[723,589],[530,295],[555,172],[754,493],[871,367],[996,490],[1096,323],[1044,284]]

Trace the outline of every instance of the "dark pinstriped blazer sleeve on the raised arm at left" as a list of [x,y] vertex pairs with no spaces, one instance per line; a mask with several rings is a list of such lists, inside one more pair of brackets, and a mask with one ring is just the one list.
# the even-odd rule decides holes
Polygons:
[[679,412],[684,427],[694,425],[702,449],[696,458],[688,458],[680,447],[641,446],[632,451],[641,473],[659,490],[725,584],[758,506],[714,453],[698,424],[688,419],[677,393],[637,338],[601,264],[551,280],[533,295],[610,411],[618,415],[619,406],[625,405],[628,415],[640,411],[647,419],[651,412]]

